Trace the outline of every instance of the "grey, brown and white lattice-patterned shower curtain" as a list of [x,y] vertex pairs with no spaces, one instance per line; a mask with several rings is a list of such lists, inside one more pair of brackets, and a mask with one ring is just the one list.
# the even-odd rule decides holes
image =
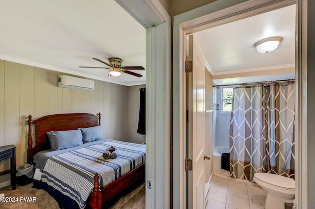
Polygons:
[[234,89],[230,176],[253,181],[257,172],[294,178],[295,84]]

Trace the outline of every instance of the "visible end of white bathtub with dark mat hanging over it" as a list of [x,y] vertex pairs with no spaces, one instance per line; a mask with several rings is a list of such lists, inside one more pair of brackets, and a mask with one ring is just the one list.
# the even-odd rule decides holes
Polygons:
[[224,146],[215,146],[212,154],[212,168],[215,175],[229,176],[230,172],[221,169],[222,153],[229,153],[230,148]]

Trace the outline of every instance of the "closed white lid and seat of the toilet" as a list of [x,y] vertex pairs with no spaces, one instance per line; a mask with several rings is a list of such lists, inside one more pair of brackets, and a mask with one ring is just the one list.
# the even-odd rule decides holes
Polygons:
[[256,173],[254,174],[254,180],[259,180],[264,182],[271,187],[277,187],[279,189],[295,191],[295,181],[293,178],[284,177],[282,175],[277,174],[269,174],[269,173]]

